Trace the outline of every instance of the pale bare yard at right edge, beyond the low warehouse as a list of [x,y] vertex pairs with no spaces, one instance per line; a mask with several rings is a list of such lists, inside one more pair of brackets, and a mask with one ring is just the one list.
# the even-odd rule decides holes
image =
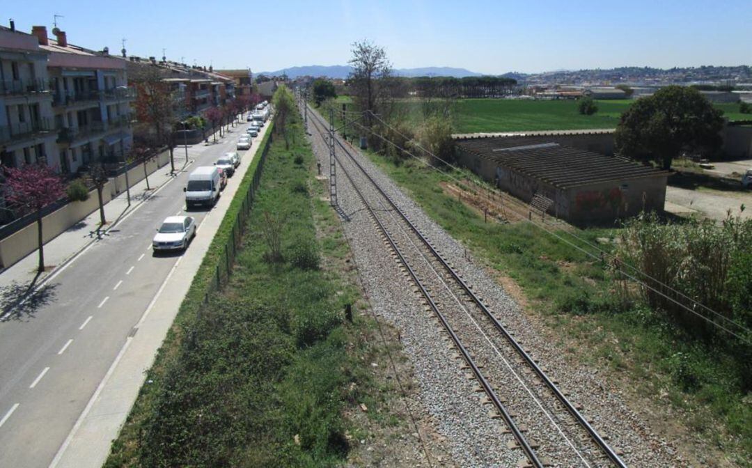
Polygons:
[[696,214],[714,220],[723,220],[731,210],[732,215],[740,214],[739,208],[745,205],[741,217],[752,217],[752,192],[729,192],[719,190],[687,190],[679,187],[666,187],[666,211],[688,215]]

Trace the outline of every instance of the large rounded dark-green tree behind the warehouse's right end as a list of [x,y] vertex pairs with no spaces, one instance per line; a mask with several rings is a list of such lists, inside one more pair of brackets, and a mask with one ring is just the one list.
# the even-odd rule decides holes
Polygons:
[[669,86],[638,99],[621,116],[615,144],[623,156],[671,169],[682,150],[712,153],[722,143],[723,111],[698,90]]

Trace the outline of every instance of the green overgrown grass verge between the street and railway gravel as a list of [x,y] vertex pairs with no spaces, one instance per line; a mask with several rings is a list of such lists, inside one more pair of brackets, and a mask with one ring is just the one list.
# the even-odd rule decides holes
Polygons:
[[[343,321],[359,293],[327,265],[347,255],[347,242],[311,196],[314,158],[299,120],[288,126],[290,148],[280,137],[271,144],[229,283],[202,304],[237,200],[105,466],[335,466],[350,433],[365,438],[344,414],[384,401],[369,393],[368,358],[378,350],[362,336],[372,324],[360,315]],[[275,263],[267,261],[270,217],[284,228]]]

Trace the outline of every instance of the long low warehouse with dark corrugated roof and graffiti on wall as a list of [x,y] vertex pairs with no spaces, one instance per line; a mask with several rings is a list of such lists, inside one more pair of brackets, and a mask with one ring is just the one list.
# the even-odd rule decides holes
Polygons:
[[544,197],[547,212],[576,224],[608,224],[663,211],[669,172],[546,137],[457,140],[459,163],[511,195]]

